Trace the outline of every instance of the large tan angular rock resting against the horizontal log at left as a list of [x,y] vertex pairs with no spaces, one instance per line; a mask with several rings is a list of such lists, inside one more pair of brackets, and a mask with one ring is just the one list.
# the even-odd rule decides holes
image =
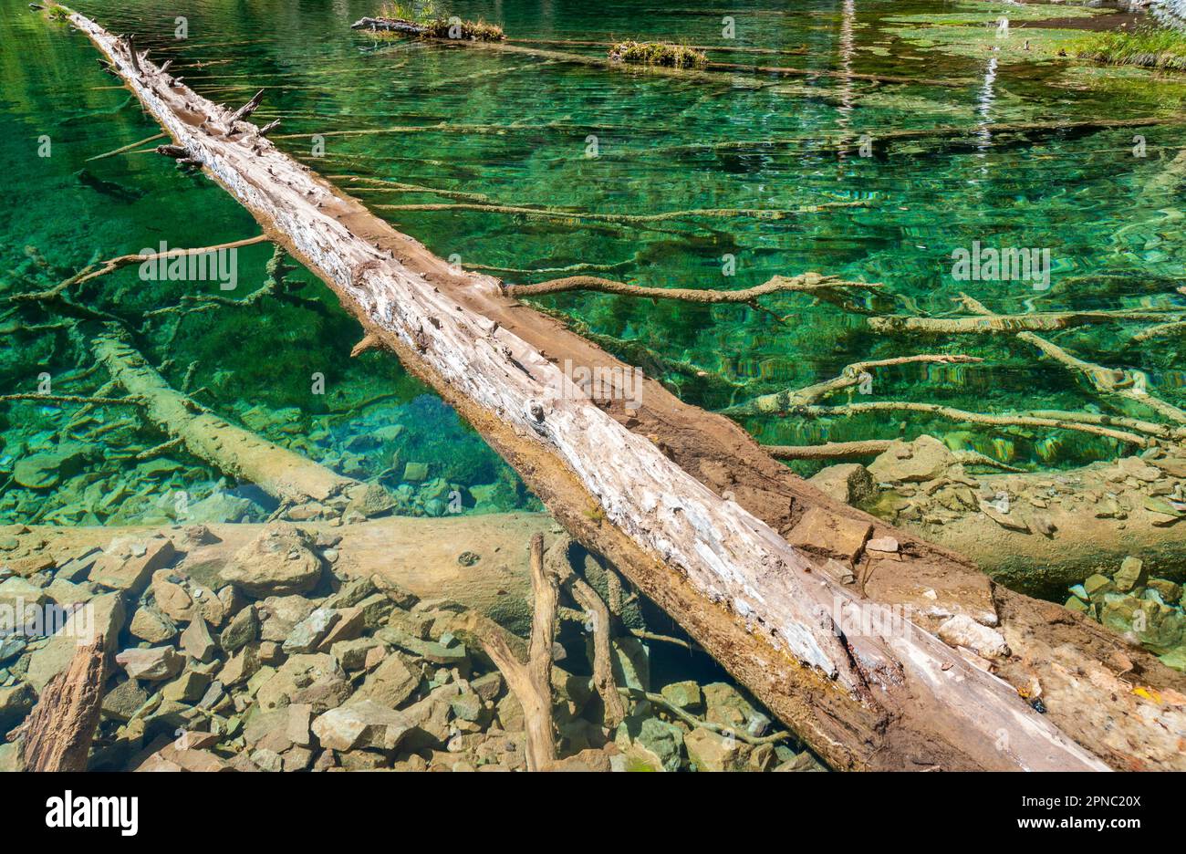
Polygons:
[[321,578],[321,559],[299,528],[279,522],[241,548],[219,578],[248,595],[264,598],[304,593]]

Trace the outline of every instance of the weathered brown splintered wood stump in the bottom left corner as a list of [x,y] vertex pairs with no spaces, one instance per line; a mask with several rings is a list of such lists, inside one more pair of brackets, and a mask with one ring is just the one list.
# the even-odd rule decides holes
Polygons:
[[30,771],[85,771],[98,726],[107,639],[79,646],[64,673],[45,686],[25,725],[21,757]]

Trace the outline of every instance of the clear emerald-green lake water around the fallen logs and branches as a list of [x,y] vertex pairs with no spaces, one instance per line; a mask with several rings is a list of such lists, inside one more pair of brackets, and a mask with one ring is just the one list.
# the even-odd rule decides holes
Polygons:
[[[1015,27],[1007,43],[995,42],[978,25],[995,20],[1002,9],[1015,21],[1029,23],[1075,14],[1061,5],[810,2],[790,12],[769,2],[731,4],[738,36],[731,45],[806,52],[710,57],[967,81],[957,88],[748,74],[702,83],[376,39],[349,30],[351,21],[375,12],[369,1],[130,0],[115,8],[83,0],[76,6],[113,31],[134,31],[158,57],[172,56],[186,82],[215,101],[242,102],[266,88],[264,107],[256,116],[283,120],[274,135],[278,145],[323,174],[343,176],[334,180],[368,203],[441,204],[480,195],[496,204],[604,214],[863,205],[782,219],[686,216],[648,224],[489,211],[384,212],[438,254],[455,255],[465,265],[547,270],[594,263],[612,266],[607,275],[639,285],[720,288],[817,270],[884,282],[892,295],[866,300],[863,307],[899,313],[951,312],[952,298],[961,291],[1001,312],[1184,305],[1173,294],[1186,249],[1181,184],[1165,179],[1167,153],[1173,155],[1180,135],[1177,128],[1142,129],[1149,154],[1144,159],[1133,157],[1130,130],[1033,145],[986,139],[970,149],[939,151],[919,144],[885,159],[840,158],[822,145],[839,134],[880,128],[1137,116],[1178,108],[1186,91],[1181,85],[1149,87],[1127,71],[1026,62],[1018,55],[1019,38],[1041,46],[1060,36],[1046,36],[1041,27]],[[721,15],[689,12],[687,6],[680,0],[597,6],[461,2],[453,11],[499,21],[514,38],[651,37],[723,44]],[[87,158],[152,135],[157,126],[102,74],[83,38],[62,25],[46,25],[23,2],[0,0],[0,170],[9,177],[9,205],[0,210],[6,291],[45,287],[96,257],[138,251],[160,241],[209,246],[256,234],[250,217],[225,193],[200,177],[178,173],[154,154],[88,162]],[[184,42],[173,38],[178,14],[189,20]],[[959,31],[952,21],[963,25]],[[976,26],[969,27],[969,21]],[[1002,45],[1003,50],[993,50]],[[753,88],[754,81],[763,85]],[[439,123],[447,127],[407,130]],[[50,158],[36,157],[42,134],[52,140]],[[319,155],[313,152],[313,134],[324,141]],[[591,135],[597,158],[586,157]],[[752,145],[735,145],[746,140]],[[720,142],[731,146],[712,147]],[[403,181],[452,196],[376,192],[346,176]],[[467,196],[461,199],[459,193]],[[1052,287],[1035,292],[1022,282],[955,281],[951,251],[974,241],[1050,248]],[[37,254],[31,257],[26,247],[36,247]],[[269,253],[267,247],[241,251],[241,288],[263,281]],[[733,276],[722,275],[726,255],[735,261]],[[562,273],[503,275],[538,281]],[[134,268],[88,286],[78,302],[102,306],[132,323],[138,346],[154,364],[164,363],[171,383],[181,387],[190,374],[190,390],[206,389],[195,391],[198,400],[274,441],[361,477],[383,473],[398,453],[401,464],[429,464],[433,478],[490,486],[479,490],[490,496],[478,502],[487,509],[529,501],[505,465],[391,359],[378,355],[349,359],[359,337],[357,325],[306,272],[291,279],[304,283],[295,299],[193,314],[177,332],[172,321],[146,312],[177,304],[192,286],[146,283]],[[1010,340],[875,336],[861,314],[812,304],[803,295],[766,298],[763,311],[597,294],[566,294],[542,304],[620,342],[611,349],[631,361],[639,358],[637,348],[648,349],[652,370],[662,370],[655,365],[663,361],[690,367],[670,370],[664,378],[684,399],[714,408],[834,376],[859,359],[926,351],[965,352],[986,362],[879,372],[873,399],[978,410],[1095,404],[1063,369]],[[5,325],[52,321],[23,310]],[[87,329],[96,329],[94,324]],[[1181,339],[1131,345],[1130,332],[1112,325],[1056,339],[1085,358],[1144,370],[1150,390],[1186,403]],[[56,391],[91,391],[103,381],[95,374],[69,384],[71,370],[90,365],[85,337],[26,329],[8,332],[6,340],[0,375],[8,389],[33,390],[43,370],[55,377]],[[192,363],[197,364],[191,371]],[[695,369],[720,380],[697,377]],[[314,371],[326,376],[324,396],[310,394]],[[377,397],[382,400],[362,406]],[[120,415],[97,418],[107,423]],[[63,413],[8,404],[6,418],[0,427],[7,466],[20,454],[56,442],[52,432]],[[398,441],[376,446],[357,438],[394,423],[407,431]],[[958,440],[983,452],[1053,466],[1117,452],[1107,442],[1077,435],[1001,434],[923,415],[830,422],[764,418],[746,426],[760,440],[780,444],[959,432]],[[98,458],[84,469],[87,477],[102,473],[103,489],[94,491],[110,495],[123,480],[135,485],[134,492],[144,491],[144,501],[178,489],[196,498],[208,495],[218,476],[192,460],[178,458],[174,471],[145,473],[140,464],[122,458],[128,446],[160,440],[139,429],[96,436],[91,446],[98,448]],[[396,486],[398,473],[387,476],[387,483]],[[63,480],[62,489],[82,491],[89,485]],[[30,521],[43,505],[62,505],[62,501],[46,503],[46,495],[9,486],[0,496],[0,517]],[[87,514],[106,521],[84,504],[74,502],[69,508],[58,521],[90,521]],[[423,502],[407,508],[423,510]],[[129,505],[116,521],[152,512]]]

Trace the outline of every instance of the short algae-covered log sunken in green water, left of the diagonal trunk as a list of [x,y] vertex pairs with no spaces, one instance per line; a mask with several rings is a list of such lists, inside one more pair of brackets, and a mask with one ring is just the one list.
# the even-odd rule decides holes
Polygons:
[[218,418],[171,388],[134,348],[115,334],[94,342],[96,359],[129,395],[144,401],[146,416],[185,450],[288,505],[345,504],[347,493],[365,489],[298,453]]

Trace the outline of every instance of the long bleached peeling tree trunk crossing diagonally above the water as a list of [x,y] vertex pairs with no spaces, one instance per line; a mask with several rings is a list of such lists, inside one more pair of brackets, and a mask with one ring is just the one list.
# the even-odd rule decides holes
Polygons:
[[[739,427],[653,381],[643,384],[642,408],[629,410],[621,400],[573,390],[553,359],[626,368],[515,302],[496,280],[451,269],[253,126],[228,126],[229,111],[145,57],[133,62],[127,44],[94,21],[70,20],[190,157],[468,419],[575,538],[610,559],[834,766],[1107,767],[1056,721],[1115,766],[1184,765],[1173,735],[1182,728],[1180,706],[1070,686],[1041,715],[1018,693],[1031,671],[1002,681],[989,668],[1005,671],[1012,658],[957,651],[930,631],[948,618],[997,623],[1005,604],[1010,622],[1001,631],[1015,638],[1014,657],[1025,657],[1053,642],[1047,604],[994,591],[955,555],[829,502]],[[886,546],[885,537],[894,540],[892,553],[867,548]],[[854,591],[834,581],[824,572],[830,555],[875,584]],[[868,619],[916,605],[897,626]],[[1076,646],[1095,654],[1123,645],[1067,619],[1064,658],[1078,655]],[[1182,684],[1150,656],[1141,664],[1146,684]],[[1039,675],[1059,668],[1053,680],[1065,661],[1044,656],[1027,667]],[[1098,714],[1082,715],[1083,703]]]

